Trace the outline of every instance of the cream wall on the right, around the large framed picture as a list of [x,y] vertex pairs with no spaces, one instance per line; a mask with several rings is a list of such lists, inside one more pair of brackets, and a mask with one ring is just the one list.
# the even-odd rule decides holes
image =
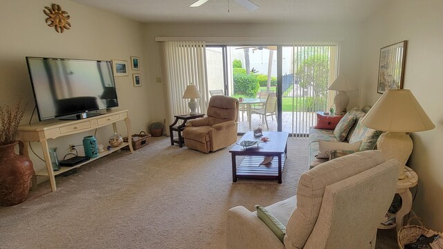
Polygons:
[[374,104],[380,48],[408,40],[404,89],[410,89],[434,122],[435,129],[413,133],[408,166],[419,176],[413,210],[426,227],[443,231],[443,1],[392,0],[367,20],[362,57],[360,104]]

